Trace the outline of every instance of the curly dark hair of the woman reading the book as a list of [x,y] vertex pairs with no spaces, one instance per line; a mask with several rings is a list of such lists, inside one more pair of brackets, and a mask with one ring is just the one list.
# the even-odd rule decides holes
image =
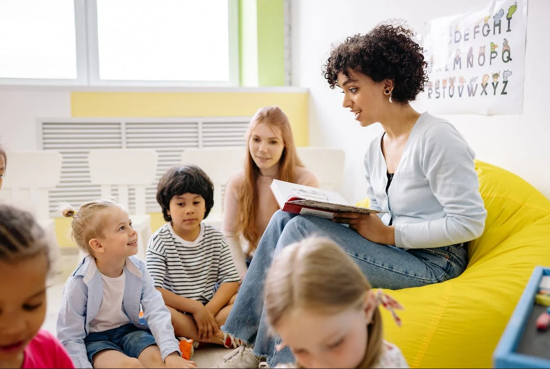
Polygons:
[[348,37],[331,51],[322,71],[331,88],[338,86],[338,73],[361,72],[375,82],[393,80],[392,99],[406,103],[424,91],[428,82],[427,61],[414,32],[401,25],[382,23],[366,35]]

